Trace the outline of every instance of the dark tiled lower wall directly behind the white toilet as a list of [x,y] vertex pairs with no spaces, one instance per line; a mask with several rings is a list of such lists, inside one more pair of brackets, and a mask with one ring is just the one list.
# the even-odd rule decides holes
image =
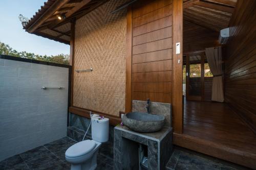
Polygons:
[[[90,124],[90,119],[86,117],[82,117],[76,114],[69,114],[69,127],[67,136],[76,140],[76,141],[82,141],[84,133],[87,131],[87,128]],[[91,127],[88,130],[88,134],[85,138],[91,139]],[[102,143],[100,149],[100,154],[114,159],[114,127],[110,125],[109,128],[109,141]]]

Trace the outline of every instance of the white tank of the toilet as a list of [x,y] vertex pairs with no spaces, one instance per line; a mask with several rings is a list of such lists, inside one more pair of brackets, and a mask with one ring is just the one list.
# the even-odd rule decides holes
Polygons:
[[98,142],[109,140],[109,118],[92,117],[92,139]]

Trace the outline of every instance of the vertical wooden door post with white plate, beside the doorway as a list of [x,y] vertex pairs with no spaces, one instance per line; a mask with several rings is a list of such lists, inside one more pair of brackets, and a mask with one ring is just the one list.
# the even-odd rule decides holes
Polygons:
[[[176,43],[180,42],[180,54],[176,54]],[[183,1],[173,1],[173,85],[172,108],[174,132],[183,131],[182,112],[182,63],[183,63]],[[178,60],[180,62],[178,63]]]

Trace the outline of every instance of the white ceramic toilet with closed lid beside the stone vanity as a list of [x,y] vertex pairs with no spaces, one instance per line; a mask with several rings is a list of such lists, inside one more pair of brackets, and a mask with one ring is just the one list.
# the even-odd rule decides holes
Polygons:
[[93,116],[92,139],[73,144],[65,153],[71,170],[93,170],[97,167],[97,154],[102,142],[109,140],[109,118]]

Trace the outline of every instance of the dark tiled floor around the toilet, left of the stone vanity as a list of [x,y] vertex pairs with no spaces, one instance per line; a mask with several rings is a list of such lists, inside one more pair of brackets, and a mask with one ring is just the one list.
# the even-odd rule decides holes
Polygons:
[[[76,141],[68,137],[55,140],[0,162],[0,169],[70,169],[70,163],[65,160],[65,152],[74,143]],[[113,169],[113,159],[100,153],[97,162],[98,170]]]

